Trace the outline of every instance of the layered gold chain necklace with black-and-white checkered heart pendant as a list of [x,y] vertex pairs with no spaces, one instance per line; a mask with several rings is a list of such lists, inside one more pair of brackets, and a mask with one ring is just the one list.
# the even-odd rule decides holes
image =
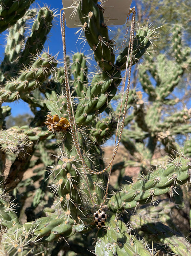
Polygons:
[[[68,117],[69,117],[69,122],[70,122],[73,144],[75,145],[77,154],[80,157],[80,160],[82,162],[83,174],[84,174],[85,181],[86,181],[86,184],[87,184],[88,192],[90,194],[91,202],[93,203],[93,205],[95,207],[99,207],[99,210],[94,213],[94,221],[95,221],[95,224],[96,224],[97,228],[101,228],[105,224],[105,221],[107,219],[107,214],[106,214],[106,212],[103,211],[103,208],[104,208],[104,204],[106,202],[107,196],[108,196],[109,181],[110,181],[110,177],[111,177],[111,169],[112,169],[112,166],[113,166],[114,158],[115,158],[116,153],[117,153],[118,148],[119,148],[119,143],[120,143],[120,140],[121,140],[121,135],[122,135],[122,132],[123,132],[123,127],[124,127],[124,122],[125,122],[125,115],[126,115],[126,111],[127,111],[127,102],[128,102],[129,87],[130,87],[130,76],[131,76],[132,63],[133,63],[133,40],[134,40],[134,27],[135,27],[135,8],[133,7],[131,9],[129,9],[129,13],[128,13],[128,17],[127,17],[127,23],[126,23],[126,27],[127,27],[128,21],[129,21],[129,15],[132,13],[133,16],[132,16],[131,29],[130,29],[129,48],[128,48],[128,54],[127,54],[127,60],[126,60],[125,76],[124,76],[124,81],[123,81],[123,89],[122,89],[121,103],[120,103],[120,109],[119,109],[118,123],[117,123],[117,128],[116,128],[116,133],[115,133],[115,142],[114,142],[113,154],[112,154],[112,158],[111,158],[109,164],[101,171],[91,170],[87,166],[87,164],[85,163],[85,161],[83,159],[81,149],[80,149],[80,143],[79,143],[79,140],[78,140],[78,133],[77,133],[77,125],[76,125],[76,121],[75,121],[75,114],[74,114],[74,110],[73,110],[71,91],[70,91],[70,85],[69,85],[69,79],[68,79],[68,71],[67,71],[67,63],[66,63],[65,13],[63,12],[63,14],[61,15],[62,10],[64,10],[64,9],[60,10],[60,17],[62,17],[62,18],[60,18],[60,22],[61,22],[61,34],[62,34],[63,55],[64,55],[64,71],[65,71],[67,112],[68,112]],[[125,39],[127,39],[127,33],[128,33],[128,28],[126,28],[126,35],[124,37],[122,46],[124,46],[125,41],[126,41]],[[116,45],[116,43],[115,43],[115,45]],[[116,48],[118,49],[117,45],[116,45]],[[127,73],[128,60],[129,60],[129,72]],[[119,131],[119,123],[120,123],[120,117],[121,117],[121,109],[122,109],[122,106],[123,106],[123,96],[124,96],[124,91],[125,91],[126,78],[128,78],[128,80],[127,80],[128,82],[127,82],[127,88],[126,88],[125,105],[124,105],[124,111],[123,111],[123,116],[122,116],[122,121],[121,121],[121,128],[120,128],[120,131]],[[118,136],[118,131],[119,131],[119,136]],[[118,137],[118,141],[117,141],[117,137]],[[92,195],[91,195],[91,191],[90,191],[90,187],[89,187],[89,184],[88,184],[88,178],[87,178],[86,171],[90,172],[91,174],[99,175],[99,174],[102,174],[103,172],[105,172],[109,167],[110,167],[110,170],[109,170],[109,174],[108,174],[108,182],[107,182],[107,185],[106,185],[105,196],[103,198],[103,202],[100,205],[97,205],[94,202],[94,200],[92,198]]]

